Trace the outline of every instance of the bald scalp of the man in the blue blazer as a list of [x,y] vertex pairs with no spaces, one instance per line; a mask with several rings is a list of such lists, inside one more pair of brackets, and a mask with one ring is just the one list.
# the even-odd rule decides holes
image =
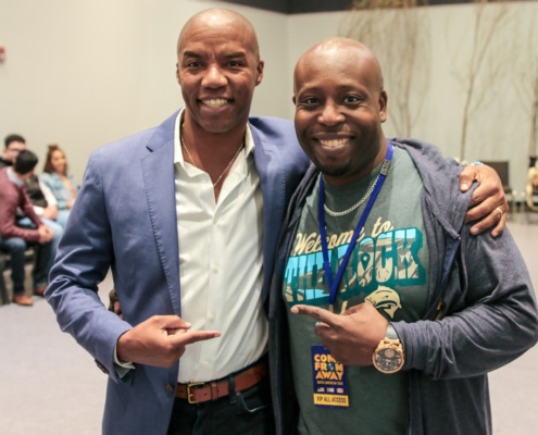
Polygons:
[[234,28],[241,33],[248,41],[246,50],[254,55],[258,61],[260,59],[260,47],[258,45],[258,36],[252,24],[240,13],[228,9],[208,9],[192,15],[183,27],[179,38],[177,39],[177,53],[183,51],[185,44],[208,28],[212,29],[229,29]]

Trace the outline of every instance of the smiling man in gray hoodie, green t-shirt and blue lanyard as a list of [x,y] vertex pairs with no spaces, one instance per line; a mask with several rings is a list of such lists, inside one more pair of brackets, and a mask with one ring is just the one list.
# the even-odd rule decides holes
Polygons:
[[283,225],[271,293],[278,432],[491,434],[487,373],[538,339],[510,232],[470,234],[461,167],[434,146],[387,140],[381,71],[362,44],[314,46],[293,90],[314,165]]

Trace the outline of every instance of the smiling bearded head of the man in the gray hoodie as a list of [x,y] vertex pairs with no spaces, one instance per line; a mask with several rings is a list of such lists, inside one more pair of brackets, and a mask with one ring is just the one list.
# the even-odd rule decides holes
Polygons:
[[387,95],[374,54],[346,38],[306,51],[295,70],[297,137],[327,183],[345,185],[385,158]]

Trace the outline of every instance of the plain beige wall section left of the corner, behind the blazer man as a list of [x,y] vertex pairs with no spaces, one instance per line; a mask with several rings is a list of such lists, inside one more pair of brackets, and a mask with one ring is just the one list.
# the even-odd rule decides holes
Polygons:
[[283,115],[290,95],[279,86],[288,76],[285,15],[200,0],[0,0],[1,146],[22,134],[41,170],[47,144],[58,142],[80,181],[93,148],[183,104],[179,29],[196,12],[223,5],[253,22],[267,60],[252,112]]

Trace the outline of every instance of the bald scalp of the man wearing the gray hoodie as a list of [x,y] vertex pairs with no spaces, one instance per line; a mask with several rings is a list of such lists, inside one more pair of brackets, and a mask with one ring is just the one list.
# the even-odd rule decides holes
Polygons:
[[[381,67],[374,52],[354,39],[333,37],[316,44],[299,58],[293,73],[296,94],[304,72],[314,67],[320,69],[318,73],[323,74],[324,67],[322,65],[336,66],[337,69],[354,66],[358,73],[365,69],[367,74],[363,78],[367,79],[366,85],[379,91],[383,90]],[[333,74],[329,73],[329,70],[326,70],[325,73]]]

